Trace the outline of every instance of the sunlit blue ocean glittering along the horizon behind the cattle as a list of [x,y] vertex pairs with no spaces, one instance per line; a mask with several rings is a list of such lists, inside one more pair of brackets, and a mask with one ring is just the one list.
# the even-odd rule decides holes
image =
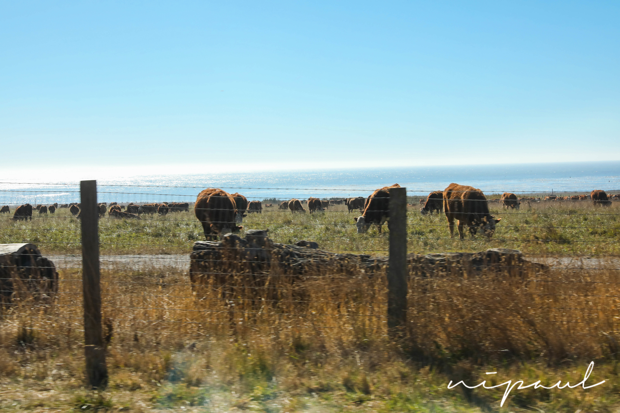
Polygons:
[[[53,181],[24,175],[0,177],[0,204],[79,202],[79,181]],[[368,196],[376,188],[398,183],[410,195],[427,194],[449,183],[471,185],[484,193],[590,193],[593,189],[620,192],[620,161],[528,163],[457,167],[411,167],[296,172],[148,175],[97,180],[101,202],[193,202],[204,188],[239,192],[250,199],[290,199],[317,196]]]

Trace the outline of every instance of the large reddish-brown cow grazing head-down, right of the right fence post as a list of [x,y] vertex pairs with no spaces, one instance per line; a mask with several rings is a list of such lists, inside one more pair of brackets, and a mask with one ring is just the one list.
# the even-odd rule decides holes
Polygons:
[[480,189],[472,186],[451,183],[443,191],[443,209],[448,219],[450,238],[454,238],[454,219],[459,221],[459,239],[463,240],[463,225],[469,227],[472,237],[476,235],[478,228],[487,237],[495,232],[501,218],[495,219],[495,215],[489,213],[489,203]]

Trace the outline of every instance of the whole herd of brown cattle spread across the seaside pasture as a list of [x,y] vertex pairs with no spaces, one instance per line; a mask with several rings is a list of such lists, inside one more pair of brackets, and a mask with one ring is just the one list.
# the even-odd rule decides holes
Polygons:
[[[376,189],[368,198],[358,196],[356,198],[332,199],[329,201],[319,198],[308,198],[299,200],[296,198],[283,201],[278,204],[278,209],[293,213],[311,213],[325,211],[333,205],[346,205],[348,212],[360,211],[361,216],[354,217],[353,220],[358,233],[368,231],[371,225],[376,225],[378,232],[381,233],[381,226],[389,220],[389,189],[400,188],[398,184],[385,186]],[[546,196],[540,198],[518,198],[513,193],[505,192],[500,198],[487,199],[480,189],[472,186],[458,185],[451,183],[443,191],[433,191],[427,198],[420,199],[420,213],[422,215],[437,214],[444,212],[448,220],[450,237],[454,237],[454,221],[458,221],[459,238],[464,238],[463,227],[466,226],[472,237],[480,230],[486,237],[491,237],[495,232],[496,225],[501,218],[495,218],[489,212],[489,202],[498,202],[505,209],[520,209],[521,202],[531,204],[531,202],[573,202],[591,201],[594,206],[610,206],[612,199],[620,199],[620,194],[606,194],[604,191],[592,191],[590,195],[582,194],[575,196]],[[412,206],[412,204],[409,204]],[[304,206],[307,207],[304,208]],[[188,202],[162,202],[137,205],[130,202],[127,206],[119,205],[117,202],[101,202],[97,206],[99,217],[109,217],[140,219],[142,214],[166,215],[169,212],[189,211]],[[265,208],[271,208],[273,204],[265,204]],[[77,218],[81,215],[81,204],[72,202],[71,204],[37,205],[34,209],[38,214],[55,214],[58,209],[69,209],[72,215]],[[242,222],[247,214],[262,214],[263,205],[260,201],[248,201],[245,196],[239,193],[229,194],[223,189],[208,188],[198,194],[194,205],[194,212],[200,221],[207,240],[216,240],[218,234],[237,232],[243,228],[237,225]],[[124,210],[124,211],[123,211]],[[0,213],[11,213],[9,206],[3,206]],[[15,209],[12,219],[32,220],[33,207],[30,204],[23,204]]]

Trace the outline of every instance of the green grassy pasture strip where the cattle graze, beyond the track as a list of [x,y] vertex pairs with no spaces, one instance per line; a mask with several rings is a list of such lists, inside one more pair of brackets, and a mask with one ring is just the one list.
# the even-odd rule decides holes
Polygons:
[[[275,202],[274,202],[275,203]],[[450,239],[445,215],[423,216],[418,206],[409,207],[407,246],[414,252],[482,251],[487,248],[513,248],[542,254],[618,254],[620,253],[620,202],[611,207],[594,207],[591,202],[539,202],[520,211],[502,209],[490,203],[492,214],[502,218],[495,235]],[[244,229],[268,229],[270,238],[281,243],[317,241],[329,251],[386,255],[387,225],[379,234],[376,227],[356,233],[353,217],[346,206],[332,206],[327,212],[291,214],[277,207],[264,208],[262,214],[248,214]],[[141,220],[100,220],[102,254],[184,254],[193,241],[204,240],[193,211],[168,215],[142,215]],[[44,253],[79,253],[79,220],[66,209],[56,214],[34,214],[32,222],[13,221],[0,215],[0,243],[33,242]],[[456,233],[456,228],[455,228]],[[457,236],[458,238],[458,236]]]

